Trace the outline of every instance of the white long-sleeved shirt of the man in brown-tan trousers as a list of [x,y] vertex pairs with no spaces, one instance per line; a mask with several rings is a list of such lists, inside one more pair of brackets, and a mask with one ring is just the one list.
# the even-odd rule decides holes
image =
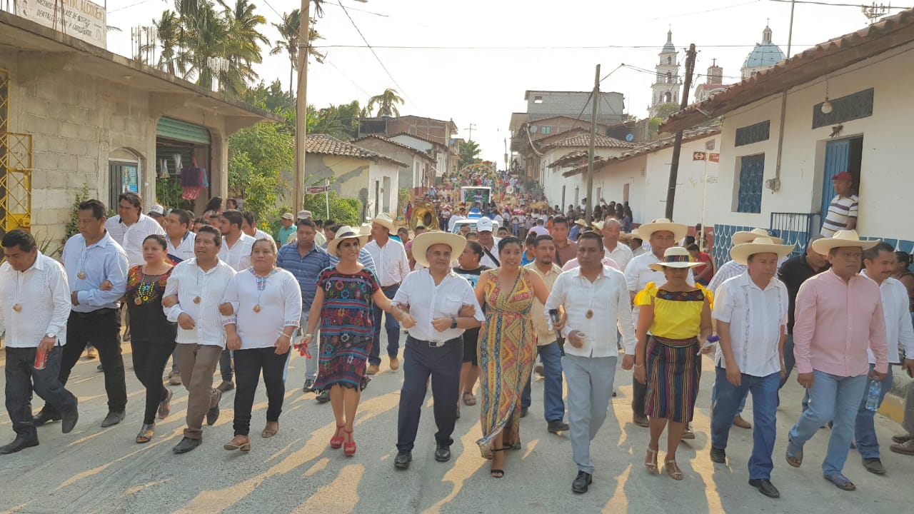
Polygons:
[[[175,341],[178,344],[225,348],[226,333],[222,328],[219,304],[234,276],[235,270],[222,261],[205,272],[197,266],[196,257],[181,262],[172,269],[168,283],[165,284],[165,296],[177,294],[178,303],[163,307],[165,317],[175,323],[178,316],[186,314],[196,324],[190,330],[177,326]],[[200,299],[200,303],[194,302],[196,298]]]

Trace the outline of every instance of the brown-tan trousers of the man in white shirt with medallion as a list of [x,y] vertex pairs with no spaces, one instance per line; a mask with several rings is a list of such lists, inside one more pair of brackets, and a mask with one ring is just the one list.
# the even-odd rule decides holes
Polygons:
[[219,362],[222,347],[178,343],[175,349],[177,369],[187,390],[188,439],[203,439],[203,418],[219,404],[222,391],[213,388],[213,373]]

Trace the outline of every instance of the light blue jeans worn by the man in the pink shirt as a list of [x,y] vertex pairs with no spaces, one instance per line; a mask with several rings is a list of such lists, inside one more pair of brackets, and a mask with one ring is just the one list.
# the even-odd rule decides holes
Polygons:
[[824,371],[813,370],[813,387],[809,388],[809,407],[793,425],[790,443],[802,449],[819,428],[832,422],[828,451],[822,463],[827,477],[841,473],[847,460],[851,441],[854,439],[854,422],[866,390],[866,375],[839,377]]

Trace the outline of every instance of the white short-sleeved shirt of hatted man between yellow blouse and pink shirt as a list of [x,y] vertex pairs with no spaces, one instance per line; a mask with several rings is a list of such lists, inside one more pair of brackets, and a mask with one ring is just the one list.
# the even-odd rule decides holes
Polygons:
[[[777,277],[761,289],[746,272],[717,287],[711,317],[730,325],[730,348],[742,373],[767,377],[781,372],[778,347],[787,333],[788,309],[787,286]],[[727,368],[719,345],[714,360]]]

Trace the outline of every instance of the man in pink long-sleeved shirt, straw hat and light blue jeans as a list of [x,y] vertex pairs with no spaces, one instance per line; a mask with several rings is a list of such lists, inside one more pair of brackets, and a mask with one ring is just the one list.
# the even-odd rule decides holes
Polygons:
[[822,464],[826,480],[844,490],[856,486],[842,474],[854,438],[860,399],[866,393],[867,348],[876,364],[870,376],[888,372],[886,322],[879,286],[860,276],[864,250],[879,241],[861,241],[856,230],[838,230],[832,238],[813,241],[813,250],[828,255],[832,269],[800,286],[793,325],[797,381],[809,392],[809,407],[793,425],[787,463],[802,465],[802,447],[826,422],[833,422]]

